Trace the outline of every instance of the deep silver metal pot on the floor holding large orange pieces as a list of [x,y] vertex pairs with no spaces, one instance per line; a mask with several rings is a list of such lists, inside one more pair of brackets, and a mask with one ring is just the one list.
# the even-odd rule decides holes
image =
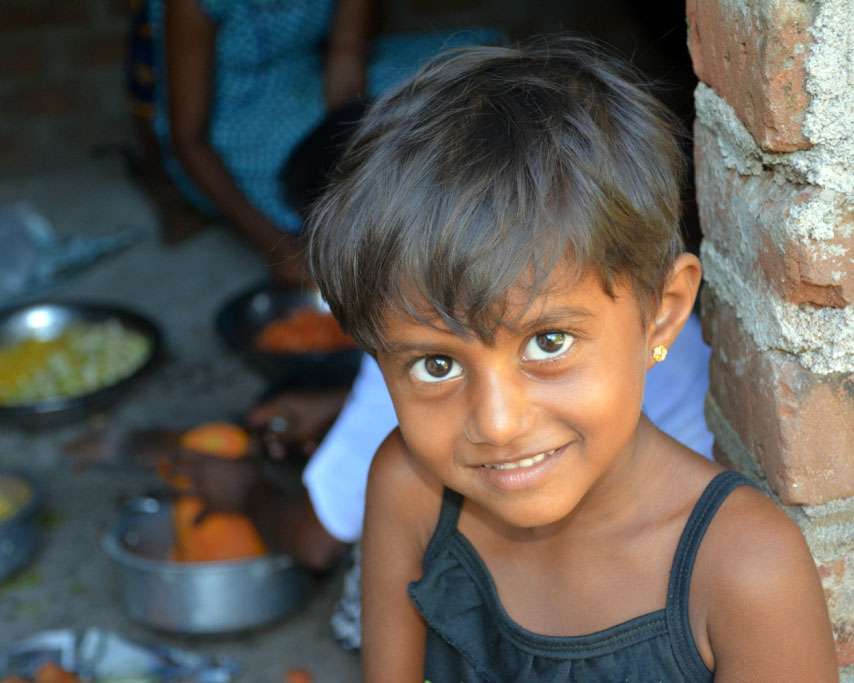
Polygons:
[[147,626],[196,635],[242,631],[293,613],[308,592],[308,573],[290,557],[173,562],[172,540],[171,505],[155,498],[125,503],[103,540],[125,610]]

